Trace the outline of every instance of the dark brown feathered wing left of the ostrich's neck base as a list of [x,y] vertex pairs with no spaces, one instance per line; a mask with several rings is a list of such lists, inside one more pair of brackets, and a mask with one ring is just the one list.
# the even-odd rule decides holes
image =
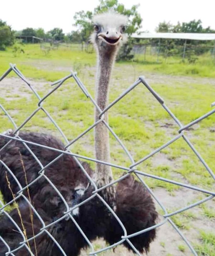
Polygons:
[[[12,134],[12,132],[11,132]],[[57,149],[64,149],[63,143],[54,136],[37,133],[37,132],[21,132],[20,138],[34,143],[50,146]],[[2,148],[9,139],[0,137],[0,148]],[[55,159],[60,153],[53,150],[45,149],[35,145],[28,145],[34,152],[43,166],[46,166],[53,159]],[[38,172],[41,167],[34,159],[29,150],[20,141],[11,141],[2,151],[1,160],[9,167],[9,169],[16,176],[22,187],[35,180],[39,176]],[[83,167],[92,176],[92,170],[86,162],[82,163]],[[74,199],[73,194],[76,188],[86,188],[89,180],[81,170],[80,166],[76,163],[75,159],[70,155],[63,155],[51,166],[45,169],[44,174],[51,180],[53,185],[61,192],[69,202]],[[3,194],[4,200],[9,202],[13,199],[13,194],[18,190],[18,184],[6,170],[3,164],[0,163],[0,189]],[[41,176],[37,182],[29,186],[30,196],[34,200],[40,200],[41,203],[52,203],[58,205],[59,200],[62,201],[57,192],[54,191],[52,185],[49,184],[46,177]],[[10,183],[10,187],[9,184]]]

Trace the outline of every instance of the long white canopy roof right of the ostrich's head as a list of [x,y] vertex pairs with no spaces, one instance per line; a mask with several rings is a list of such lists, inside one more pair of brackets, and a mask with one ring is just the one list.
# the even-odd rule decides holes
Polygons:
[[141,34],[133,34],[132,37],[133,38],[215,40],[215,33],[141,33]]

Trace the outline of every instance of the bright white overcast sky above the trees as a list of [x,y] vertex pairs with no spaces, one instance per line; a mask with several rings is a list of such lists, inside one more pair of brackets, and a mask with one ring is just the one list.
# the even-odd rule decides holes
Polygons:
[[[201,19],[204,27],[215,29],[215,0],[119,0],[119,3],[126,8],[140,4],[141,30],[153,32],[163,20],[176,24],[193,19]],[[98,4],[99,0],[1,0],[0,19],[14,30],[42,27],[49,31],[59,27],[68,33],[74,29],[76,11],[93,11]]]

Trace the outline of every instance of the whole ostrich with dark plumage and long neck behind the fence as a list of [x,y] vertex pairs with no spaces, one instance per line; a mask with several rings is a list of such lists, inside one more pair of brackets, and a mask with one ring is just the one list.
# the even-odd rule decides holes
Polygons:
[[[97,79],[96,79],[96,102],[101,110],[108,104],[108,91],[111,70],[115,61],[116,54],[124,40],[124,27],[126,18],[123,15],[116,13],[104,13],[94,17],[95,31],[92,34],[91,40],[97,51]],[[95,110],[95,121],[98,120],[99,111]],[[108,115],[105,113],[104,120],[108,122]],[[13,132],[9,131],[10,134]],[[24,140],[33,141],[39,144],[52,146],[54,148],[62,149],[63,144],[56,138],[50,135],[38,134],[34,132],[20,132],[19,136]],[[0,147],[4,146],[8,139],[0,137]],[[38,159],[43,165],[46,165],[51,160],[56,158],[59,153],[43,148],[38,148],[34,145],[29,145]],[[109,134],[108,130],[102,123],[95,127],[95,153],[96,158],[106,162],[110,162],[109,150]],[[23,175],[22,161],[23,158],[25,172],[28,182],[34,180],[40,167],[35,162],[35,159],[30,155],[28,150],[18,141],[13,141],[7,145],[1,152],[1,159],[13,171],[22,186],[26,185]],[[92,176],[92,170],[86,163],[87,173]],[[54,164],[46,168],[45,174],[56,185],[58,190],[66,198],[70,206],[80,203],[92,195],[94,187],[90,184],[86,176],[82,173],[77,162],[70,155],[64,155],[58,159]],[[113,174],[110,166],[103,164],[96,164],[96,184],[97,187],[102,187],[113,181]],[[8,190],[8,183],[5,177],[5,167],[0,167],[0,188],[5,201],[10,201],[11,191]],[[5,177],[5,178],[4,178]],[[11,190],[15,193],[18,187],[13,178],[8,174]],[[40,216],[45,223],[53,222],[54,219],[59,218],[60,214],[65,211],[63,204],[60,203],[58,195],[53,191],[53,188],[47,184],[46,180],[42,178],[37,183],[29,187],[29,193],[34,207],[37,209]],[[66,185],[65,185],[66,184]],[[38,189],[39,187],[39,189]],[[81,187],[81,192],[79,191]],[[50,189],[51,188],[51,189]],[[153,200],[149,192],[144,186],[134,180],[133,176],[128,176],[118,182],[116,188],[110,186],[100,192],[104,200],[112,207],[115,213],[124,224],[128,234],[140,231],[144,228],[151,227],[156,224],[157,212]],[[20,200],[19,209],[24,219],[24,225],[27,230],[27,237],[32,237],[32,223],[30,223],[29,206]],[[115,217],[110,214],[106,206],[101,202],[99,197],[95,196],[87,203],[81,205],[77,211],[72,212],[73,217],[80,225],[83,232],[90,241],[96,237],[103,237],[106,242],[113,244],[118,242],[123,235],[123,231],[116,221]],[[14,209],[10,216],[16,220],[16,223],[21,227],[18,211]],[[34,216],[33,228],[35,233],[39,232],[41,228],[40,223]],[[87,242],[82,237],[81,233],[76,228],[75,224],[68,219],[63,219],[61,222],[48,228],[48,231],[56,238],[63,250],[69,256],[76,256],[81,248],[87,246]],[[137,237],[130,238],[130,241],[140,252],[147,252],[149,244],[155,238],[156,232],[151,231],[140,234]],[[8,217],[0,218],[0,236],[13,249],[19,245],[22,237],[18,232],[14,231],[13,223]],[[44,234],[35,239],[37,244],[38,255],[59,255],[59,250],[56,244],[47,238]],[[127,242],[124,245],[132,250]],[[30,242],[32,251],[34,252],[33,242]],[[0,242],[0,255],[5,253],[7,248]],[[24,248],[20,249],[16,255],[26,255]]]

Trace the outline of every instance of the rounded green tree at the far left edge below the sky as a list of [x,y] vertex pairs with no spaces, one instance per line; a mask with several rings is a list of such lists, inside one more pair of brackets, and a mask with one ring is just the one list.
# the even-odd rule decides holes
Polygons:
[[5,50],[6,46],[13,45],[14,32],[11,27],[0,19],[0,50]]

